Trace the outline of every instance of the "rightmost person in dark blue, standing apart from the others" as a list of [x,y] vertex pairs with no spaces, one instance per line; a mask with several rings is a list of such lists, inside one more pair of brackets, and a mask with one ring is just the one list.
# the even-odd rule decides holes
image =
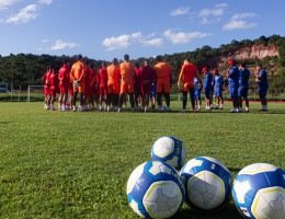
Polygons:
[[269,90],[269,81],[267,81],[267,72],[262,68],[262,65],[258,65],[255,72],[255,81],[258,83],[258,91],[260,95],[260,101],[262,108],[261,111],[267,111],[267,90]]

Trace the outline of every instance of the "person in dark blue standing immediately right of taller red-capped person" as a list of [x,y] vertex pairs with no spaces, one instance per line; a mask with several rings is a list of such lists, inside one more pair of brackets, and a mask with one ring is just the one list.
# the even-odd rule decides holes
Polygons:
[[242,101],[246,102],[246,113],[249,113],[249,78],[250,78],[250,70],[247,68],[246,64],[241,64],[240,68],[240,77],[239,77],[239,108],[242,111]]

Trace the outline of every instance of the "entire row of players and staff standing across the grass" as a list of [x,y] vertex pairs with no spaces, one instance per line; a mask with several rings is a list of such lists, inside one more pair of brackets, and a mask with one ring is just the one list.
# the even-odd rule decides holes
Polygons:
[[[58,95],[59,111],[116,111],[121,112],[126,107],[127,96],[132,111],[147,112],[149,102],[158,111],[170,111],[171,92],[171,66],[157,57],[157,64],[152,67],[148,60],[142,66],[133,65],[129,56],[124,56],[121,64],[116,58],[110,65],[102,62],[96,72],[93,64],[83,61],[82,56],[77,57],[77,61],[70,67],[65,61],[58,72],[48,68],[43,77],[45,108],[55,110],[54,103]],[[246,101],[244,112],[249,112],[248,90],[250,71],[246,65],[237,66],[233,59],[228,61],[228,88],[232,100],[233,108],[231,112],[243,112],[242,101]],[[202,69],[203,77],[200,77],[197,67],[185,59],[181,68],[178,87],[182,91],[183,103],[182,112],[186,111],[187,95],[192,103],[192,110],[195,112],[201,108],[201,92],[204,90],[206,111],[213,108],[213,96],[217,101],[217,108],[223,108],[224,99],[224,78],[214,70],[209,71],[207,66]],[[203,78],[203,79],[202,79]],[[266,71],[262,66],[256,67],[255,80],[259,84],[259,94],[262,103],[262,111],[267,111],[266,91],[267,79]],[[164,96],[166,106],[162,104]],[[79,97],[79,105],[77,101]]]

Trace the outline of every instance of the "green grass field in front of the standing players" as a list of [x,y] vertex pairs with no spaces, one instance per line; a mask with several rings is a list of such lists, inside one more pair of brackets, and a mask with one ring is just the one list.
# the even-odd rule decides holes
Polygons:
[[[0,218],[137,218],[126,182],[160,136],[184,140],[187,159],[209,155],[232,174],[254,162],[285,168],[285,104],[270,112],[60,113],[42,103],[0,103]],[[174,107],[175,110],[175,107]],[[178,110],[178,108],[176,108]],[[183,206],[176,218],[241,218]]]

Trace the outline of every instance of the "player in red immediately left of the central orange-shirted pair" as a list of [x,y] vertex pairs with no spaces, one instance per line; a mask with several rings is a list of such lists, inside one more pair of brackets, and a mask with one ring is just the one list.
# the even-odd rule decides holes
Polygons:
[[98,73],[98,84],[99,84],[99,111],[102,111],[102,104],[105,103],[106,106],[106,93],[107,93],[107,70],[105,62],[102,62],[102,67],[99,69]]

